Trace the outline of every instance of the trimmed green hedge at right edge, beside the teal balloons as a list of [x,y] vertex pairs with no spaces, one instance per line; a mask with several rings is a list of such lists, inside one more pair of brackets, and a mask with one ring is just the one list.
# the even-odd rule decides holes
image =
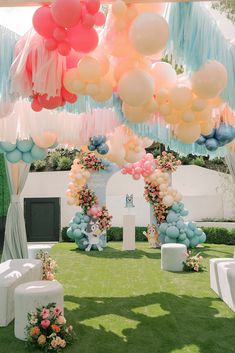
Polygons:
[[220,227],[202,227],[208,244],[235,245],[235,229]]

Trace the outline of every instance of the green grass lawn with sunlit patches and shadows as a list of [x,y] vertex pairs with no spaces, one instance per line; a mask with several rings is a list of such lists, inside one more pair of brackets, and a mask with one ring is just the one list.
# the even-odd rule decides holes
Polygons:
[[[109,243],[105,251],[54,246],[65,315],[77,341],[68,353],[232,353],[235,314],[210,290],[209,259],[234,247],[205,246],[203,273],[160,269],[160,250],[137,243],[133,252]],[[23,353],[14,326],[0,329],[0,353]]]

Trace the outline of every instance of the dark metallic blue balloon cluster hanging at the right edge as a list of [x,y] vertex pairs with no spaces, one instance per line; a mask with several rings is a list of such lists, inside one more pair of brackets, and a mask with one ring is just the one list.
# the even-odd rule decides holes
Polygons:
[[235,128],[231,125],[221,123],[214,128],[209,135],[201,135],[196,141],[198,145],[205,145],[208,151],[216,151],[219,147],[225,146],[233,141]]

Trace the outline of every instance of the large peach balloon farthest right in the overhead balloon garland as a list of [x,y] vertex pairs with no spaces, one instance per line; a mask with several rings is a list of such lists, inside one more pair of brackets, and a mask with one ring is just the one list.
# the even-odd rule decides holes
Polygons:
[[200,98],[214,98],[227,85],[226,68],[218,61],[209,61],[192,75],[192,89]]

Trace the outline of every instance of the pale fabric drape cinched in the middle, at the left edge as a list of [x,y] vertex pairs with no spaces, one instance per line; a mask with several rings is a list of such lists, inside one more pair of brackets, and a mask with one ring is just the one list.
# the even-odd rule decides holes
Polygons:
[[24,162],[16,164],[7,162],[6,166],[11,200],[7,212],[2,262],[28,257],[24,215],[19,197],[24,188],[30,165]]

